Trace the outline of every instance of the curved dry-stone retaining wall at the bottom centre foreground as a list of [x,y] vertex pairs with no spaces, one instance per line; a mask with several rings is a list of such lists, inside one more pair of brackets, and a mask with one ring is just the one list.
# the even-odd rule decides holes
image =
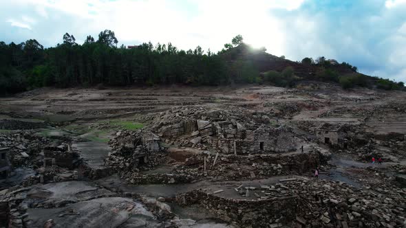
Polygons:
[[193,190],[177,196],[180,205],[200,204],[217,218],[237,223],[240,227],[281,227],[293,220],[297,212],[297,196],[245,200],[224,198]]

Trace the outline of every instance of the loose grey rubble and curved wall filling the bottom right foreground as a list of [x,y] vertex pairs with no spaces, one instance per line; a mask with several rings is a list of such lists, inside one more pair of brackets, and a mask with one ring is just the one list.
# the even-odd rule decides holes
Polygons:
[[264,183],[259,187],[235,187],[237,194],[243,197],[255,196],[256,200],[216,196],[221,190],[205,191],[180,194],[177,201],[180,205],[200,203],[218,218],[233,221],[242,227],[406,225],[406,189],[394,187],[390,183],[366,186],[360,190],[342,182],[292,178],[281,179],[279,183]]

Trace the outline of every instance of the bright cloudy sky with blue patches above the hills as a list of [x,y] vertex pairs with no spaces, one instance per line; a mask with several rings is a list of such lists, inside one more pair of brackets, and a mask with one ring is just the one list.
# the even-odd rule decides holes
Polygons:
[[0,41],[44,47],[102,30],[118,45],[200,45],[217,52],[241,34],[290,60],[350,62],[361,73],[406,82],[406,0],[13,0],[0,1]]

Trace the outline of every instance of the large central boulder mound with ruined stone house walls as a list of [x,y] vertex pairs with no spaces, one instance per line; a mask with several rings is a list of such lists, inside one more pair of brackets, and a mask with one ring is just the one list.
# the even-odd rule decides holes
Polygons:
[[292,129],[271,126],[270,118],[244,109],[186,106],[158,114],[151,129],[168,144],[216,149],[225,154],[296,150]]

